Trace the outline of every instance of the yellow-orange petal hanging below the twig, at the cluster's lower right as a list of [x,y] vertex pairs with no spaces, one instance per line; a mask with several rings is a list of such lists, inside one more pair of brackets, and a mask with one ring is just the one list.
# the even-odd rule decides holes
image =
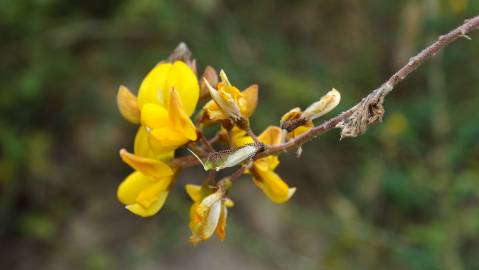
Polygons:
[[293,196],[296,188],[289,188],[288,185],[273,171],[251,170],[254,183],[275,203],[284,203]]

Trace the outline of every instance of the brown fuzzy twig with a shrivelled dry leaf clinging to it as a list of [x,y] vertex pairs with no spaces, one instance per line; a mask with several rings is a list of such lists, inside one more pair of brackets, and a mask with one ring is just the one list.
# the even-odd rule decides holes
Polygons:
[[[384,114],[384,98],[398,83],[403,81],[411,72],[416,70],[421,64],[432,58],[439,50],[446,47],[451,42],[462,37],[470,39],[466,34],[478,27],[479,15],[465,20],[461,26],[440,36],[434,43],[422,50],[416,56],[411,57],[406,65],[394,73],[379,88],[373,90],[368,96],[363,98],[354,107],[323,122],[321,125],[310,129],[308,132],[303,133],[293,140],[280,145],[267,147],[265,151],[258,153],[254,158],[258,159],[269,155],[287,152],[288,150],[299,147],[333,128],[341,128],[341,138],[357,137],[363,134],[370,125],[381,121]],[[171,164],[190,167],[199,164],[199,162],[196,159],[182,157],[172,160]]]

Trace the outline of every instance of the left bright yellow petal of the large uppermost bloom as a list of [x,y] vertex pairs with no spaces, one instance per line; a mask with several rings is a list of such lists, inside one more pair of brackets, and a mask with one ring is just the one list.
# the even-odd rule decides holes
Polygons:
[[140,110],[143,109],[143,105],[146,103],[166,105],[165,91],[168,90],[166,88],[166,80],[172,66],[169,63],[160,63],[143,79],[138,91],[138,106]]

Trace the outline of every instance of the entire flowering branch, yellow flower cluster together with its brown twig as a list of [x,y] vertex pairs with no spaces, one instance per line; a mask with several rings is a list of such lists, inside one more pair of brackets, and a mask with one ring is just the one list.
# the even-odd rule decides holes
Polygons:
[[[201,164],[209,171],[203,184],[185,186],[193,200],[190,240],[197,244],[215,232],[223,240],[227,209],[233,206],[227,195],[236,179],[249,174],[271,201],[288,201],[296,189],[275,172],[280,153],[301,150],[305,142],[333,128],[341,129],[341,138],[363,134],[370,125],[381,121],[384,98],[395,85],[451,42],[461,37],[469,39],[466,34],[478,27],[476,16],[440,36],[358,104],[318,126],[313,120],[330,112],[340,101],[335,89],[304,111],[290,110],[281,117],[279,126],[269,126],[259,136],[250,128],[250,117],[258,103],[258,86],[253,84],[240,91],[223,70],[218,74],[210,66],[198,78],[196,61],[182,43],[148,73],[137,96],[125,86],[118,90],[120,113],[139,126],[133,153],[120,150],[122,160],[134,172],[118,187],[118,199],[133,214],[153,216],[163,207],[180,170]],[[203,100],[207,102],[193,122],[190,117]],[[212,126],[219,126],[219,131],[206,138],[203,131]],[[182,147],[192,155],[175,157],[175,151]],[[235,166],[239,168],[233,174],[215,178],[216,171]]]

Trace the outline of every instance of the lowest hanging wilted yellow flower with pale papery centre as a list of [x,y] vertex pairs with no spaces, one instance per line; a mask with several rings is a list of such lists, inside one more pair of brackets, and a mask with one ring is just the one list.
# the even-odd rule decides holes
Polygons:
[[220,190],[210,193],[197,185],[186,185],[186,192],[193,200],[190,208],[190,241],[196,245],[209,239],[215,232],[220,240],[224,240],[227,207],[232,207],[233,202]]

